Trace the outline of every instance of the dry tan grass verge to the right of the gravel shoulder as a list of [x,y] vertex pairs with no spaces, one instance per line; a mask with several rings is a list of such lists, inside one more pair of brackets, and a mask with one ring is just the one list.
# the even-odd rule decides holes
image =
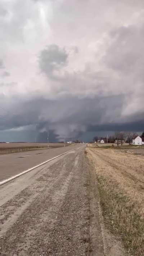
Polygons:
[[131,255],[144,255],[144,157],[88,148],[98,177],[105,223]]

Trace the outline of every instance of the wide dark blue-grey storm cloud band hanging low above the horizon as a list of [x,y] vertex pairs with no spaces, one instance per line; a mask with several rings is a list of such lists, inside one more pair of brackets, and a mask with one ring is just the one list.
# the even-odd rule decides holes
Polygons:
[[[55,134],[61,134],[58,138],[64,136],[61,130],[64,128],[66,128],[67,133],[65,135],[67,137],[79,136],[86,131],[106,131],[109,129],[113,131],[136,129],[138,131],[144,125],[143,114],[137,117],[137,122],[127,122],[127,117],[122,122],[118,121],[121,120],[124,104],[123,95],[95,97],[93,99],[69,97],[62,100],[35,98],[26,101],[21,98],[17,100],[17,103],[13,99],[11,111],[3,113],[0,128],[5,130],[34,125],[35,131],[44,133],[49,126]],[[18,105],[19,109],[17,109]],[[44,116],[41,115],[42,113]],[[112,122],[110,121],[111,117],[115,117]],[[135,120],[135,116],[131,117],[131,120]]]

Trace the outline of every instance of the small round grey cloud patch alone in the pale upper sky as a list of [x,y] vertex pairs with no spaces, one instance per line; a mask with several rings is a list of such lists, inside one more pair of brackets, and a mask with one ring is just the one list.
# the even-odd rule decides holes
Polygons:
[[54,70],[66,65],[67,57],[65,49],[60,49],[58,45],[49,45],[40,53],[40,69],[45,75],[52,76]]

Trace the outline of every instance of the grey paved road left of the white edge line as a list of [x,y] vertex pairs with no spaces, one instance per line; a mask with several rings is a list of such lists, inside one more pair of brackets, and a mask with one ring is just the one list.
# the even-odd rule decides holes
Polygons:
[[77,147],[78,145],[1,155],[0,181]]

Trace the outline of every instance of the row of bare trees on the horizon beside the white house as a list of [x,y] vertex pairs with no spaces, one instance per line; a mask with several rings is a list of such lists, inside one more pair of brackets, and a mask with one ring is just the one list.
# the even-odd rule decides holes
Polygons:
[[[126,132],[116,131],[114,135],[108,137],[108,143],[117,143],[117,146],[119,146],[120,144],[122,145],[123,142],[127,142],[129,143],[129,145],[131,145],[132,139],[134,139],[135,136],[138,136],[138,134],[131,131],[126,131]],[[144,132],[141,134],[140,137],[144,138]],[[106,137],[98,137],[98,136],[94,137],[93,142],[98,142],[98,140],[104,140],[105,143],[107,142]]]

